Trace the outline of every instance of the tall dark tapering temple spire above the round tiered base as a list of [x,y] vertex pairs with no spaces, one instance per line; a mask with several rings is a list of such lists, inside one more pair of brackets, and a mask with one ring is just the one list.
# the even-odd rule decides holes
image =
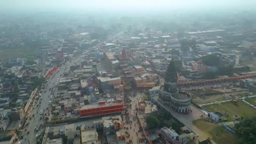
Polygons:
[[177,76],[177,71],[175,70],[175,67],[174,67],[173,58],[166,70],[164,78],[165,78],[164,91],[169,93],[177,93],[178,76]]

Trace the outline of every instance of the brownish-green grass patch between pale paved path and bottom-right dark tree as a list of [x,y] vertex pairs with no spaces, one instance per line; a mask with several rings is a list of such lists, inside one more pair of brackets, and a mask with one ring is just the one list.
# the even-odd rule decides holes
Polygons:
[[201,131],[209,135],[209,138],[219,144],[237,143],[236,135],[230,133],[220,125],[213,124],[207,119],[201,118],[193,121],[193,124]]

